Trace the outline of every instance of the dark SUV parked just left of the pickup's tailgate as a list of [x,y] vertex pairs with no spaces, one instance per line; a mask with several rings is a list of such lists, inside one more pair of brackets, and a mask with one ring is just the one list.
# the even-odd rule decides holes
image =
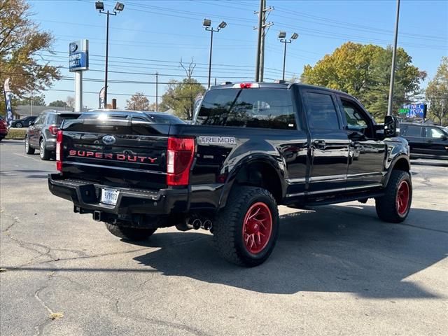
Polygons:
[[34,154],[38,149],[42,160],[50,160],[56,149],[56,134],[63,120],[76,119],[80,113],[46,110],[29,123],[25,136],[25,152]]

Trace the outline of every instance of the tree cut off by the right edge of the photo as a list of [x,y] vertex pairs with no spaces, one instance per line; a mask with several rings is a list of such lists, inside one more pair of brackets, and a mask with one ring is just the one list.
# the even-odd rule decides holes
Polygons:
[[448,57],[442,57],[435,77],[426,87],[426,101],[429,103],[428,117],[440,125],[448,124]]

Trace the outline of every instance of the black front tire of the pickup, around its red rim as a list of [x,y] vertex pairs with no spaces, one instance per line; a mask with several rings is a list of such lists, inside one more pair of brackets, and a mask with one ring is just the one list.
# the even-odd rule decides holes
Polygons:
[[[398,188],[402,186],[402,183],[407,183],[409,189],[409,196],[407,207],[403,211],[399,211],[397,202]],[[388,223],[401,223],[405,221],[411,209],[412,203],[412,181],[408,172],[402,170],[393,170],[391,177],[387,183],[386,193],[382,197],[375,198],[375,206],[377,209],[378,217]]]

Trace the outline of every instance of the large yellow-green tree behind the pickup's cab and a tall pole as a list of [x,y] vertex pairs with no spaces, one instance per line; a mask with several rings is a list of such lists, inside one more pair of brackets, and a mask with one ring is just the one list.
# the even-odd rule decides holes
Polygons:
[[[352,94],[380,119],[387,112],[391,59],[389,47],[347,42],[331,55],[325,55],[315,66],[304,66],[301,80]],[[424,78],[426,72],[413,66],[412,58],[398,48],[393,111],[398,111],[403,103],[410,102],[420,92],[419,84]]]

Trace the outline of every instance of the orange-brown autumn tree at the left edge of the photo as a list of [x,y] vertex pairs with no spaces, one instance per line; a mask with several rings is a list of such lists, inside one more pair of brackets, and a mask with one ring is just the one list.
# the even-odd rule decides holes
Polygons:
[[[60,78],[57,67],[38,63],[36,54],[51,51],[54,39],[31,20],[32,15],[25,0],[0,0],[0,83],[11,78],[10,89],[18,99],[29,92],[38,94]],[[4,109],[0,94],[0,111]]]

